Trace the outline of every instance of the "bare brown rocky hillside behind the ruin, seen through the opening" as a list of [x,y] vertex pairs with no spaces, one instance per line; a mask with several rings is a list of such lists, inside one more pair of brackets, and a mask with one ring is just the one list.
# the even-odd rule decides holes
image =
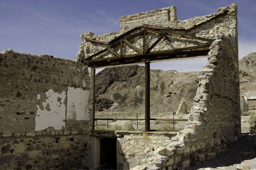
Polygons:
[[[239,60],[242,94],[256,90],[256,53]],[[132,65],[106,68],[96,75],[96,117],[144,116],[145,71]],[[151,70],[150,102],[153,117],[171,117],[182,98],[193,105],[200,72]]]

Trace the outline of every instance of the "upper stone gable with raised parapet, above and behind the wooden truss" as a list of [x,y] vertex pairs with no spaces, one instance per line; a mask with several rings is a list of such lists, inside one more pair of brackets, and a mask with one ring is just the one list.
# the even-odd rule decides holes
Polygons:
[[[167,32],[171,32],[174,34],[183,34],[194,37],[218,39],[221,34],[224,34],[225,37],[227,37],[228,34],[233,37],[237,37],[238,33],[236,15],[237,6],[235,3],[233,3],[230,6],[218,8],[218,12],[215,14],[194,17],[182,21],[177,20],[175,6],[157,9],[154,11],[142,12],[134,15],[123,16],[120,17],[120,31],[101,35],[94,35],[92,32],[80,34],[83,42],[80,44],[78,54],[76,54],[75,56],[75,60],[82,61],[83,59],[93,54],[96,54],[100,50],[106,48],[106,44],[99,45],[98,43],[89,42],[88,39],[110,42],[121,36],[122,34],[127,33],[129,30],[132,30],[133,28],[138,28],[140,26],[143,26],[144,24],[157,27],[160,26],[162,28],[168,29],[169,31]],[[140,31],[141,29],[134,31],[132,34],[136,34],[137,31]],[[162,31],[162,29],[159,29],[158,31]],[[151,39],[150,43],[155,42],[160,37],[160,35],[156,36],[154,34],[147,34],[147,36],[150,36],[148,37],[149,39]],[[140,50],[143,50],[143,47],[141,46],[143,42],[142,38],[143,36],[132,39],[132,41],[135,43],[135,46]],[[179,42],[176,42],[176,37],[169,36],[169,38],[172,40],[172,45],[174,46],[177,45],[179,46],[179,48],[187,46],[187,43],[180,44]],[[161,41],[158,44],[159,45],[156,45],[155,48],[153,48],[153,51],[156,50],[158,47],[162,48],[162,46],[166,46],[169,48],[169,46],[166,45],[165,41]],[[126,48],[126,46],[124,46],[124,48]],[[175,46],[175,48],[177,47]],[[114,50],[119,53],[118,48],[115,48]],[[126,54],[134,53],[134,50],[130,49],[129,47],[127,49],[124,49],[123,51],[125,51]],[[105,54],[106,55],[102,57],[105,58],[114,56],[109,51],[107,51]]]

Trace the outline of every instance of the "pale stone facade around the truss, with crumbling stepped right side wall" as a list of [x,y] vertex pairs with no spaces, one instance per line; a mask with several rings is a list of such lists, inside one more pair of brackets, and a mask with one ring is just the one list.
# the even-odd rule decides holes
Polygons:
[[[140,26],[140,23],[135,22],[136,16],[140,21],[141,14],[121,17],[121,22],[123,19],[131,20],[131,22],[129,27],[122,23],[119,32],[96,36],[81,34],[83,43],[80,45],[76,60],[82,61],[105,48],[104,44],[99,45],[88,39],[109,42],[127,31],[126,29]],[[143,18],[143,20],[146,19]],[[157,17],[157,22],[165,20],[164,17]],[[156,23],[152,25],[161,26]],[[147,150],[144,143],[148,146],[157,145],[158,142],[154,137],[152,137],[154,140],[147,141],[144,139],[145,135],[118,137],[117,147],[120,151],[117,152],[117,166],[120,170],[122,168],[160,170],[166,167],[172,170],[189,167],[198,161],[214,158],[224,152],[227,144],[236,142],[241,134],[236,4],[218,8],[218,13],[215,14],[183,21],[173,20],[166,27],[172,28],[172,33],[214,39],[208,53],[208,63],[199,77],[197,94],[185,129],[181,130],[177,136],[168,139],[170,142],[163,139],[161,147],[154,147],[154,152],[150,150],[145,155],[137,150],[143,150],[144,153],[144,150]],[[156,37],[149,36],[151,36],[148,37],[149,41],[154,42]],[[175,48],[204,43],[181,38],[173,40],[175,40],[172,41]],[[132,41],[137,48],[142,50],[140,37]],[[164,42],[160,42],[155,48],[155,50],[162,50],[168,47],[164,45]],[[127,52],[125,54],[133,54],[129,49],[124,51]],[[102,57],[111,57],[111,54],[105,54]],[[137,153],[132,154],[132,151]]]

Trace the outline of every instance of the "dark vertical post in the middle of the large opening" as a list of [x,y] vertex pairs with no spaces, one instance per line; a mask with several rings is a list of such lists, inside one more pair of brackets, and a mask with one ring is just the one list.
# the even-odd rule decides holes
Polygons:
[[145,62],[145,131],[150,131],[150,62]]

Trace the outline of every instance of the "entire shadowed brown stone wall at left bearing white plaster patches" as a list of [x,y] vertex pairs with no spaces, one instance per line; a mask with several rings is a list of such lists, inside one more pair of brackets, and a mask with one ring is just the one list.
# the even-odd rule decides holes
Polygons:
[[0,169],[90,163],[93,69],[50,55],[0,54]]

